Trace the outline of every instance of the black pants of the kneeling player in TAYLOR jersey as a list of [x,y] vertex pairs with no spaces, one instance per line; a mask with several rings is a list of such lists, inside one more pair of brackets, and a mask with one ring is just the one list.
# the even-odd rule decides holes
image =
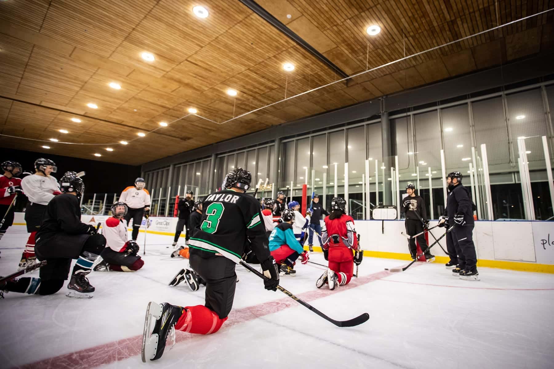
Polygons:
[[189,263],[194,272],[206,280],[206,306],[220,319],[229,315],[235,298],[237,273],[235,263],[224,256],[203,258],[191,254]]

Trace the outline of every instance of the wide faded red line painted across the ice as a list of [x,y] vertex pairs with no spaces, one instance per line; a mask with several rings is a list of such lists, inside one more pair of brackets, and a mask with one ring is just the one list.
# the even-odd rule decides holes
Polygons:
[[[388,271],[381,271],[381,272],[370,274],[365,277],[353,278],[350,283],[348,283],[345,286],[341,286],[338,290],[335,290],[335,291],[331,291],[329,289],[313,290],[310,292],[299,294],[298,297],[300,297],[305,302],[310,302],[332,294],[339,293],[347,289],[358,287],[362,284],[370,283],[375,280],[388,277],[391,274],[392,273]],[[176,302],[176,303],[179,303],[179,302]],[[279,300],[270,301],[267,303],[248,306],[242,309],[232,310],[231,313],[229,314],[229,319],[222,326],[222,329],[224,329],[225,327],[233,326],[235,324],[244,323],[249,320],[261,318],[261,316],[277,313],[278,311],[288,309],[292,306],[299,306],[299,304],[296,303],[293,299],[283,298]],[[145,308],[146,308],[146,304],[145,304]],[[359,311],[358,313],[362,313],[362,311]],[[141,322],[141,326],[142,326],[142,322]],[[190,339],[190,337],[191,337],[191,334],[187,334],[181,331],[176,331],[175,341],[176,343],[181,342],[183,340]],[[69,354],[46,358],[44,360],[39,360],[34,363],[18,366],[18,368],[29,368],[29,369],[31,368],[32,369],[48,369],[48,368],[59,369],[59,368],[75,368],[75,367],[79,367],[80,369],[93,368],[100,365],[109,364],[115,361],[125,360],[132,356],[140,355],[141,346],[142,346],[142,335],[138,335],[138,336],[129,337],[126,339],[108,342],[107,344],[103,344],[99,346],[89,347],[88,349],[84,349],[84,350],[70,352]]]

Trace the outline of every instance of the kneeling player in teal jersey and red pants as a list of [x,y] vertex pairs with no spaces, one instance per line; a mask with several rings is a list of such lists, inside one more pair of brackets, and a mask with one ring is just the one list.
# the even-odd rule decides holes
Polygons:
[[276,226],[269,235],[269,251],[285,276],[296,274],[294,264],[299,256],[302,256],[302,264],[306,264],[310,258],[308,252],[304,251],[294,236],[294,217],[294,210],[283,210],[281,212],[283,223]]

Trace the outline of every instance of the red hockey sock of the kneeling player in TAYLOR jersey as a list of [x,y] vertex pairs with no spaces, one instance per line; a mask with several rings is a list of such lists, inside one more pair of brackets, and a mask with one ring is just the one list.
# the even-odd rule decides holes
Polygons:
[[185,306],[175,329],[189,333],[212,334],[221,328],[225,320],[227,317],[219,319],[219,316],[206,306]]

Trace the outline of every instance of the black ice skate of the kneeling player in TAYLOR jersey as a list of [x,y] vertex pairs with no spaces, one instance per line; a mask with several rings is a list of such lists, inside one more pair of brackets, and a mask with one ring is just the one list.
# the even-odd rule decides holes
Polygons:
[[[175,345],[175,324],[183,315],[183,310],[184,308],[181,306],[168,303],[156,304],[153,301],[148,303],[144,331],[142,332],[142,362],[158,360],[162,357],[168,335],[171,335],[172,347]],[[151,317],[156,320],[152,331],[150,331]]]

